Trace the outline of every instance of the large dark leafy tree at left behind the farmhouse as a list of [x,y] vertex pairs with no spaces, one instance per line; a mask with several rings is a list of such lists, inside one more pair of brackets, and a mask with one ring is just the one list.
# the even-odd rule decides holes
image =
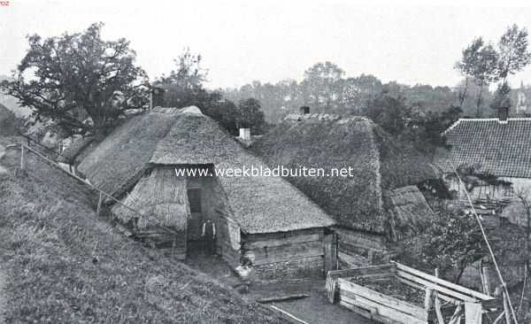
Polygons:
[[129,42],[102,40],[103,26],[47,39],[29,36],[14,81],[4,81],[3,89],[33,108],[36,120],[55,120],[67,134],[104,135],[125,109],[147,104],[149,90]]

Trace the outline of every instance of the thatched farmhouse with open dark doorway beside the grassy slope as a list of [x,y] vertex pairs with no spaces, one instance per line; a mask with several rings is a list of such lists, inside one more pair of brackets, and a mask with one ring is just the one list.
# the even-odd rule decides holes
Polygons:
[[[335,267],[335,221],[281,177],[216,175],[265,166],[196,107],[156,108],[135,116],[78,166],[123,204],[112,213],[131,233],[179,258],[198,253],[205,224],[215,251],[257,279],[322,276]],[[208,175],[181,173],[202,170]],[[165,231],[172,229],[172,232]],[[200,245],[199,245],[200,246]]]

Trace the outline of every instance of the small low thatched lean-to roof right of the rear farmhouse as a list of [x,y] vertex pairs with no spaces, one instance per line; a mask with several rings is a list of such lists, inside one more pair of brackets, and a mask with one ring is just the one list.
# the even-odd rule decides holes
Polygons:
[[405,186],[384,193],[392,216],[392,235],[397,240],[419,235],[435,219],[435,213],[416,186]]

